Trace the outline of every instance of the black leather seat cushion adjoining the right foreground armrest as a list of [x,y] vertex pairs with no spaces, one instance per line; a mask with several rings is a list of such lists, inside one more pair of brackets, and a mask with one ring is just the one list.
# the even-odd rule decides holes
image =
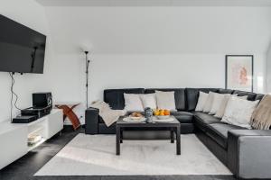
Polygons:
[[212,123],[208,125],[207,134],[211,139],[215,140],[221,147],[228,147],[228,131],[244,130],[245,128],[234,126],[226,123]]

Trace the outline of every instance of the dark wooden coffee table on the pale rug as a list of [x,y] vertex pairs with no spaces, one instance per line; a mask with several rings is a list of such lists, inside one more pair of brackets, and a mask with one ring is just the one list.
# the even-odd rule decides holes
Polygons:
[[171,116],[174,121],[168,122],[154,122],[154,123],[147,123],[147,122],[127,122],[123,121],[123,118],[120,117],[116,123],[116,154],[120,155],[120,143],[123,142],[123,131],[126,128],[136,128],[138,130],[147,130],[148,128],[157,128],[164,130],[171,131],[171,142],[174,143],[174,132],[176,134],[176,153],[177,155],[181,155],[181,123],[180,121],[176,120],[175,117]]

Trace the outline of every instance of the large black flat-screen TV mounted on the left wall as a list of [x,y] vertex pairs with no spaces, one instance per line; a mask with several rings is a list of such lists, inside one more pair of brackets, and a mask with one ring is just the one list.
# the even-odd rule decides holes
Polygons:
[[43,73],[46,36],[0,14],[0,71]]

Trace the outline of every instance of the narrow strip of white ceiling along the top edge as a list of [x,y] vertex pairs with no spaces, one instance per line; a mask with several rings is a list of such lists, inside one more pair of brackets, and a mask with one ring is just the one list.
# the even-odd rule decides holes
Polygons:
[[271,0],[36,0],[45,6],[271,6]]

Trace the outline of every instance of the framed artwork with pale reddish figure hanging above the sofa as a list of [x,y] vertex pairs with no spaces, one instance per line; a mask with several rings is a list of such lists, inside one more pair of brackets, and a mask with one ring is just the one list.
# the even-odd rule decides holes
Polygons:
[[226,89],[253,92],[253,55],[226,55]]

